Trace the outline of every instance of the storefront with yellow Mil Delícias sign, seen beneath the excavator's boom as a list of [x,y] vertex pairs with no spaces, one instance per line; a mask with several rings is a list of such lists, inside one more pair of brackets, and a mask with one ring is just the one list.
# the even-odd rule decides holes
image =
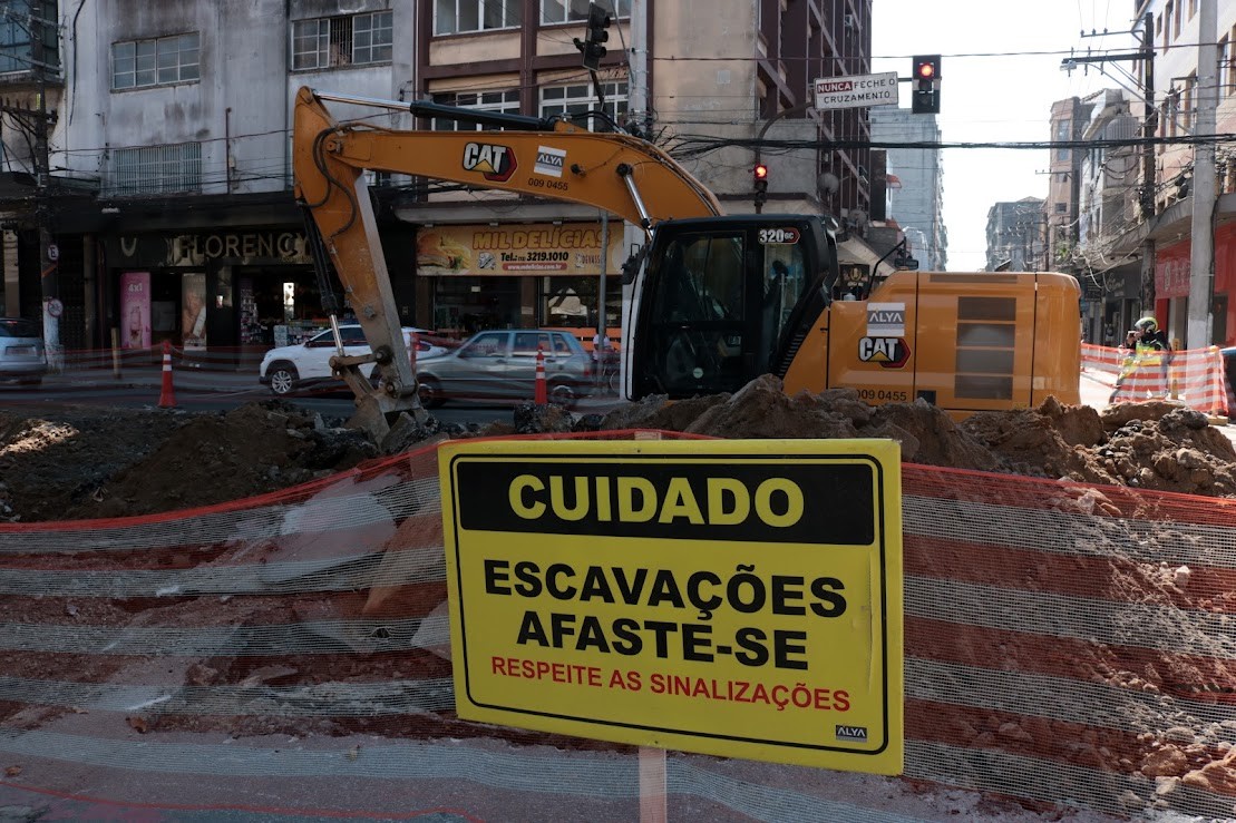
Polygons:
[[[418,325],[465,337],[482,329],[560,327],[591,341],[601,300],[599,222],[425,226],[417,276],[428,305]],[[604,315],[617,339],[623,224],[608,232]]]

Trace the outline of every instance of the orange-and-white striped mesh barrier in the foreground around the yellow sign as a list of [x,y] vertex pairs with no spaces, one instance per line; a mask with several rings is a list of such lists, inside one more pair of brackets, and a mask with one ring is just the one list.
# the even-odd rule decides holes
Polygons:
[[[436,471],[0,526],[0,806],[634,819],[629,746],[454,717]],[[1236,817],[1236,502],[921,466],[904,491],[916,780],[671,754],[671,818],[922,819],[889,798],[925,786]]]

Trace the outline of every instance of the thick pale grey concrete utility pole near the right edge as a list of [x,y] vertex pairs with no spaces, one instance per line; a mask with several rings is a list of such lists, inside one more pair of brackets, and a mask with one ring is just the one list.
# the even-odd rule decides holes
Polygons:
[[1193,242],[1189,251],[1189,325],[1187,348],[1211,345],[1211,304],[1215,298],[1215,105],[1219,90],[1219,44],[1215,27],[1216,0],[1201,0],[1198,17],[1198,83],[1194,87],[1196,116],[1193,135]]

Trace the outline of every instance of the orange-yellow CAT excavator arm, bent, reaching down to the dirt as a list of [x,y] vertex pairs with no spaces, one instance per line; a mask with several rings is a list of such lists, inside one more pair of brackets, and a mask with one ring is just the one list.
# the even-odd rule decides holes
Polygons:
[[[393,130],[366,120],[336,121],[325,101],[452,117],[481,131]],[[595,133],[566,121],[496,115],[426,103],[329,95],[302,88],[293,119],[295,196],[309,215],[319,273],[334,264],[371,355],[331,360],[356,394],[351,425],[381,439],[392,416],[423,420],[382,255],[365,173],[392,172],[483,189],[515,192],[604,209],[646,232],[661,220],[721,214],[713,194],[669,154],[623,133]],[[328,306],[329,309],[330,306]],[[337,320],[331,313],[331,325]],[[372,386],[361,367],[381,366]]]

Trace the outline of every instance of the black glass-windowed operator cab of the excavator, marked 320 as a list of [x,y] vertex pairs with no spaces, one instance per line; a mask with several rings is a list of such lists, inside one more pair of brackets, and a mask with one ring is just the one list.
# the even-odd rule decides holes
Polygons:
[[760,374],[784,377],[837,276],[836,237],[813,215],[659,224],[634,302],[633,397],[737,392]]

